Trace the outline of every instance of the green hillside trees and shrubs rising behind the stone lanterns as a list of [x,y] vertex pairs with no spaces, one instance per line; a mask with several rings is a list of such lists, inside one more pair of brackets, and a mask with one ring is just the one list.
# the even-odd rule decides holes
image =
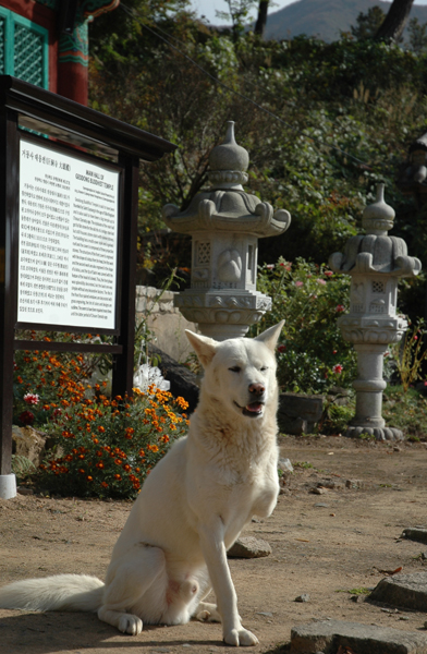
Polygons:
[[[106,16],[114,14],[123,12]],[[293,261],[296,253],[321,264],[356,233],[380,179],[398,214],[393,233],[406,239],[411,254],[427,255],[424,216],[394,186],[408,144],[425,129],[424,56],[345,36],[325,44],[245,34],[233,43],[182,8],[124,16],[125,29],[117,32],[101,29],[102,17],[94,22],[91,106],[179,145],[141,170],[142,269],[156,274],[160,263],[152,262],[162,258],[147,230],[162,226],[164,204],[185,209],[206,185],[208,154],[230,119],[251,154],[246,190],[293,219],[285,234],[260,241],[260,261]],[[175,243],[164,252],[172,266],[188,266],[187,249]]]

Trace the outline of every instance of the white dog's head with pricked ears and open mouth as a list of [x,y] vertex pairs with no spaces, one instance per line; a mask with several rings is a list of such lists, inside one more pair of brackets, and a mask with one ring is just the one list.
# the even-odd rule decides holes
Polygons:
[[277,400],[274,349],[282,320],[254,339],[233,338],[218,342],[186,330],[205,368],[203,390],[224,410],[257,419]]

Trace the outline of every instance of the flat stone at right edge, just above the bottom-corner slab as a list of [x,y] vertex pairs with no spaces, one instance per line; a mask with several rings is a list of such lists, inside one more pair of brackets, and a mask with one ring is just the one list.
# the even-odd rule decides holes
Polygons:
[[374,589],[368,600],[427,613],[427,572],[386,577]]

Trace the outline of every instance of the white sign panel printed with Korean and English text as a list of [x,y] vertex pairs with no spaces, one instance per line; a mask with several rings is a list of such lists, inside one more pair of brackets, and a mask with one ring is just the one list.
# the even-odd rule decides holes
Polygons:
[[119,178],[21,140],[19,323],[115,328]]

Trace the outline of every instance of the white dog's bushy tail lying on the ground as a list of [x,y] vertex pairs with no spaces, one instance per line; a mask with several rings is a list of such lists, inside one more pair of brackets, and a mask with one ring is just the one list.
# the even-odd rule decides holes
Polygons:
[[0,589],[0,608],[97,611],[103,583],[86,574],[56,574],[15,581]]

